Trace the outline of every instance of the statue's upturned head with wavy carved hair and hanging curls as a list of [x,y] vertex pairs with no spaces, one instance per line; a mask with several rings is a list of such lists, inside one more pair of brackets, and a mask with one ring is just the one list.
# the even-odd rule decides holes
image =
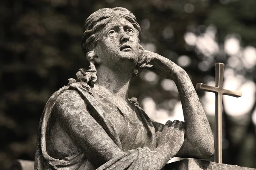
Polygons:
[[88,72],[91,76],[86,81],[96,82],[95,63],[118,69],[122,62],[123,67],[131,68],[133,75],[137,75],[139,34],[136,17],[125,8],[102,8],[91,14],[84,23],[81,42],[90,62]]

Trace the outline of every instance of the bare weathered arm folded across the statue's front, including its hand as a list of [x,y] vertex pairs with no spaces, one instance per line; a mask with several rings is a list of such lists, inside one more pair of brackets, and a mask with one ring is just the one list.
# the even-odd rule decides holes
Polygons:
[[[180,124],[168,122],[163,131],[173,131],[175,133],[163,136],[163,140],[161,140],[155,150],[146,148],[145,155],[140,157],[136,154],[140,154],[139,150],[144,148],[134,148],[134,150],[123,152],[117,147],[105,130],[90,116],[84,100],[81,99],[76,91],[67,91],[62,94],[56,102],[55,111],[58,118],[57,121],[60,122],[71,139],[81,147],[84,154],[96,167],[104,166],[104,164],[108,166],[109,162],[122,164],[123,166],[123,159],[127,159],[125,162],[131,161],[131,166],[141,166],[143,162],[147,164],[147,166],[145,165],[147,168],[143,167],[141,169],[161,169],[180,150],[184,139],[184,131],[181,130]],[[175,147],[166,145],[164,140],[172,140],[177,142],[177,144]],[[117,158],[126,153],[127,156],[118,162]],[[117,166],[118,170],[122,170],[120,166]]]

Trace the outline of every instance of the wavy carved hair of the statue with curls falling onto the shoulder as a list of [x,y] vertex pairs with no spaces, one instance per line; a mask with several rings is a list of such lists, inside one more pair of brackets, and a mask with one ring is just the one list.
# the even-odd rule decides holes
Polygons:
[[[93,62],[93,48],[97,45],[101,37],[101,30],[106,26],[106,24],[110,23],[114,17],[123,17],[128,20],[134,28],[137,30],[137,34],[140,34],[140,25],[136,21],[136,17],[131,11],[126,8],[116,7],[116,8],[102,8],[98,11],[91,14],[87,20],[84,22],[84,34],[81,40],[81,46],[84,55],[86,55],[87,60],[90,62],[89,70],[80,69],[77,72],[77,80],[87,82],[90,85],[94,85],[97,80],[97,71]],[[135,68],[133,75],[137,75],[137,68]]]

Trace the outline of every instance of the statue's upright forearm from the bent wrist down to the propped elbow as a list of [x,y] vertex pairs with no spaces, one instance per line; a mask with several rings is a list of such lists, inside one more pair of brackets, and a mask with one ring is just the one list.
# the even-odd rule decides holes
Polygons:
[[186,138],[198,150],[198,157],[212,155],[213,135],[204,109],[195,92],[195,88],[185,71],[174,79],[180,94],[186,127]]

